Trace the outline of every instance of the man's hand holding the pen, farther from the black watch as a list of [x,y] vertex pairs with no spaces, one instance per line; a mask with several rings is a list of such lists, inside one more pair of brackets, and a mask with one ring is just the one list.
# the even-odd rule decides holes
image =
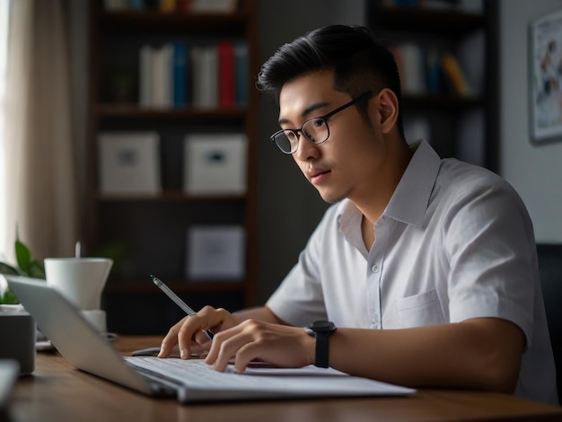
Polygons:
[[166,337],[162,339],[162,346],[158,357],[168,357],[177,344],[182,359],[189,359],[191,352],[201,353],[210,347],[205,330],[213,333],[236,326],[240,322],[232,313],[224,309],[206,306],[197,315],[185,317],[171,327]]

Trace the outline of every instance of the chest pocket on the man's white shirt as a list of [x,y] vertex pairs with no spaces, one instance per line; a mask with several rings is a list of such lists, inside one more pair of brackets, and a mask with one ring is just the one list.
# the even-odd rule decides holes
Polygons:
[[435,289],[398,299],[396,311],[400,327],[404,329],[446,322]]

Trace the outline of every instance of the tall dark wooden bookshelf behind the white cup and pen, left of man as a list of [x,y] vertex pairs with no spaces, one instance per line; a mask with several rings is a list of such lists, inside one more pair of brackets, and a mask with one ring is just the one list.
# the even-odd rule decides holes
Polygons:
[[[236,311],[257,304],[258,117],[257,98],[251,89],[257,73],[256,4],[255,0],[224,2],[237,4],[228,12],[179,10],[180,5],[189,4],[180,1],[162,2],[176,4],[172,10],[162,10],[157,1],[145,2],[151,5],[138,9],[128,5],[139,3],[143,2],[90,0],[89,3],[88,207],[83,235],[86,254],[115,259],[103,293],[108,329],[121,334],[163,334],[184,315],[152,284],[150,274],[161,278],[195,309],[211,304]],[[197,3],[205,4],[201,0]],[[113,8],[110,4],[118,6]],[[181,43],[187,48],[190,61],[193,48],[216,46],[224,41],[247,48],[246,69],[242,72],[236,68],[236,77],[245,78],[241,85],[246,91],[243,101],[224,105],[215,99],[211,105],[198,104],[189,91],[195,88],[190,86],[195,77],[191,72],[195,70],[189,68],[181,74],[186,89],[184,101],[175,101],[178,87],[171,83],[168,95],[172,98],[168,97],[168,102],[163,105],[143,102],[141,84],[146,76],[141,64],[142,48]],[[171,71],[169,78],[173,80],[177,77],[173,62],[166,63],[171,66],[166,72]],[[189,63],[189,66],[195,65]],[[218,66],[216,62],[215,66]],[[215,90],[219,90],[218,86]],[[155,194],[103,192],[101,135],[147,132],[159,137],[160,191]],[[245,138],[246,182],[242,192],[187,192],[183,175],[188,165],[184,142],[193,134],[241,134]],[[188,233],[196,226],[242,228],[243,242],[229,246],[244,250],[242,277],[191,279],[188,276],[186,265],[191,253]],[[220,265],[219,259],[217,266]]]

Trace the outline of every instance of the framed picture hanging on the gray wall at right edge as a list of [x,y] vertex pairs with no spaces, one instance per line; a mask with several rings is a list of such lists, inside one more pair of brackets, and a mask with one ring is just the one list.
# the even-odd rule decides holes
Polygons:
[[562,140],[562,10],[531,22],[529,28],[531,142]]

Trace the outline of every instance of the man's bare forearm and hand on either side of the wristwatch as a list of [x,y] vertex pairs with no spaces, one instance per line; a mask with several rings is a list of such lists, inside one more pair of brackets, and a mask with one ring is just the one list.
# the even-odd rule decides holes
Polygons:
[[[513,392],[524,337],[512,322],[479,318],[399,330],[338,329],[329,338],[329,365],[347,374],[413,387]],[[235,356],[299,367],[314,364],[315,343],[303,328],[248,320],[218,333],[206,358],[221,371]]]

